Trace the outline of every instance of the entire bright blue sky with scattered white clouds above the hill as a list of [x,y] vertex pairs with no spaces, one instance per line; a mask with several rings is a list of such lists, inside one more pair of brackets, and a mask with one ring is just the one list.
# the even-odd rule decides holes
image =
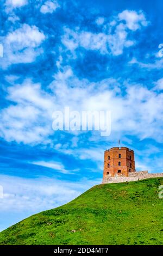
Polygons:
[[[104,150],[162,172],[162,1],[1,1],[0,230],[102,181]],[[111,134],[52,114],[111,111]]]

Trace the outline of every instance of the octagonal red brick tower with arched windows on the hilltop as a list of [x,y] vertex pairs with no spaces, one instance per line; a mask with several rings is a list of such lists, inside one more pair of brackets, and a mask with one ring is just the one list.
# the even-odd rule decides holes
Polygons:
[[135,172],[133,150],[117,147],[104,152],[103,180],[109,176],[128,176],[132,172]]

